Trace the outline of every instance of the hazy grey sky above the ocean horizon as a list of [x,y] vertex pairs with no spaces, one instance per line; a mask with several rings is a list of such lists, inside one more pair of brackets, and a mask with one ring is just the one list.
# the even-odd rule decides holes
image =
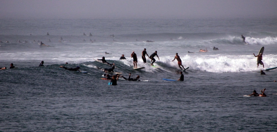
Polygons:
[[0,18],[277,18],[276,0],[0,0]]

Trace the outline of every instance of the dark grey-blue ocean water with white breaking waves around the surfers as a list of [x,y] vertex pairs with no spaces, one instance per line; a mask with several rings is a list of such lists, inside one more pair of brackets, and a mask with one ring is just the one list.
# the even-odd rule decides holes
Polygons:
[[[2,19],[0,23],[0,67],[9,68],[10,63],[18,67],[0,70],[0,131],[277,129],[277,82],[273,82],[277,70],[260,75],[260,70],[277,67],[277,19]],[[49,47],[38,45],[40,41]],[[214,46],[219,50],[213,51]],[[257,67],[253,55],[261,47],[264,68]],[[154,65],[161,68],[151,67],[148,58],[143,63],[144,48],[149,56],[158,52],[160,59],[155,57]],[[198,52],[205,48],[209,51]],[[138,67],[145,69],[132,68],[132,51]],[[177,61],[172,62],[175,53],[184,67],[190,67],[183,82],[162,80],[180,77]],[[119,60],[121,54],[126,60]],[[119,79],[117,86],[109,86],[96,66],[110,67],[93,60],[102,56],[115,63],[116,72],[139,75],[143,81]],[[44,66],[38,67],[42,60]],[[80,66],[88,73],[60,69],[61,65]],[[264,88],[267,97],[243,96]]]

